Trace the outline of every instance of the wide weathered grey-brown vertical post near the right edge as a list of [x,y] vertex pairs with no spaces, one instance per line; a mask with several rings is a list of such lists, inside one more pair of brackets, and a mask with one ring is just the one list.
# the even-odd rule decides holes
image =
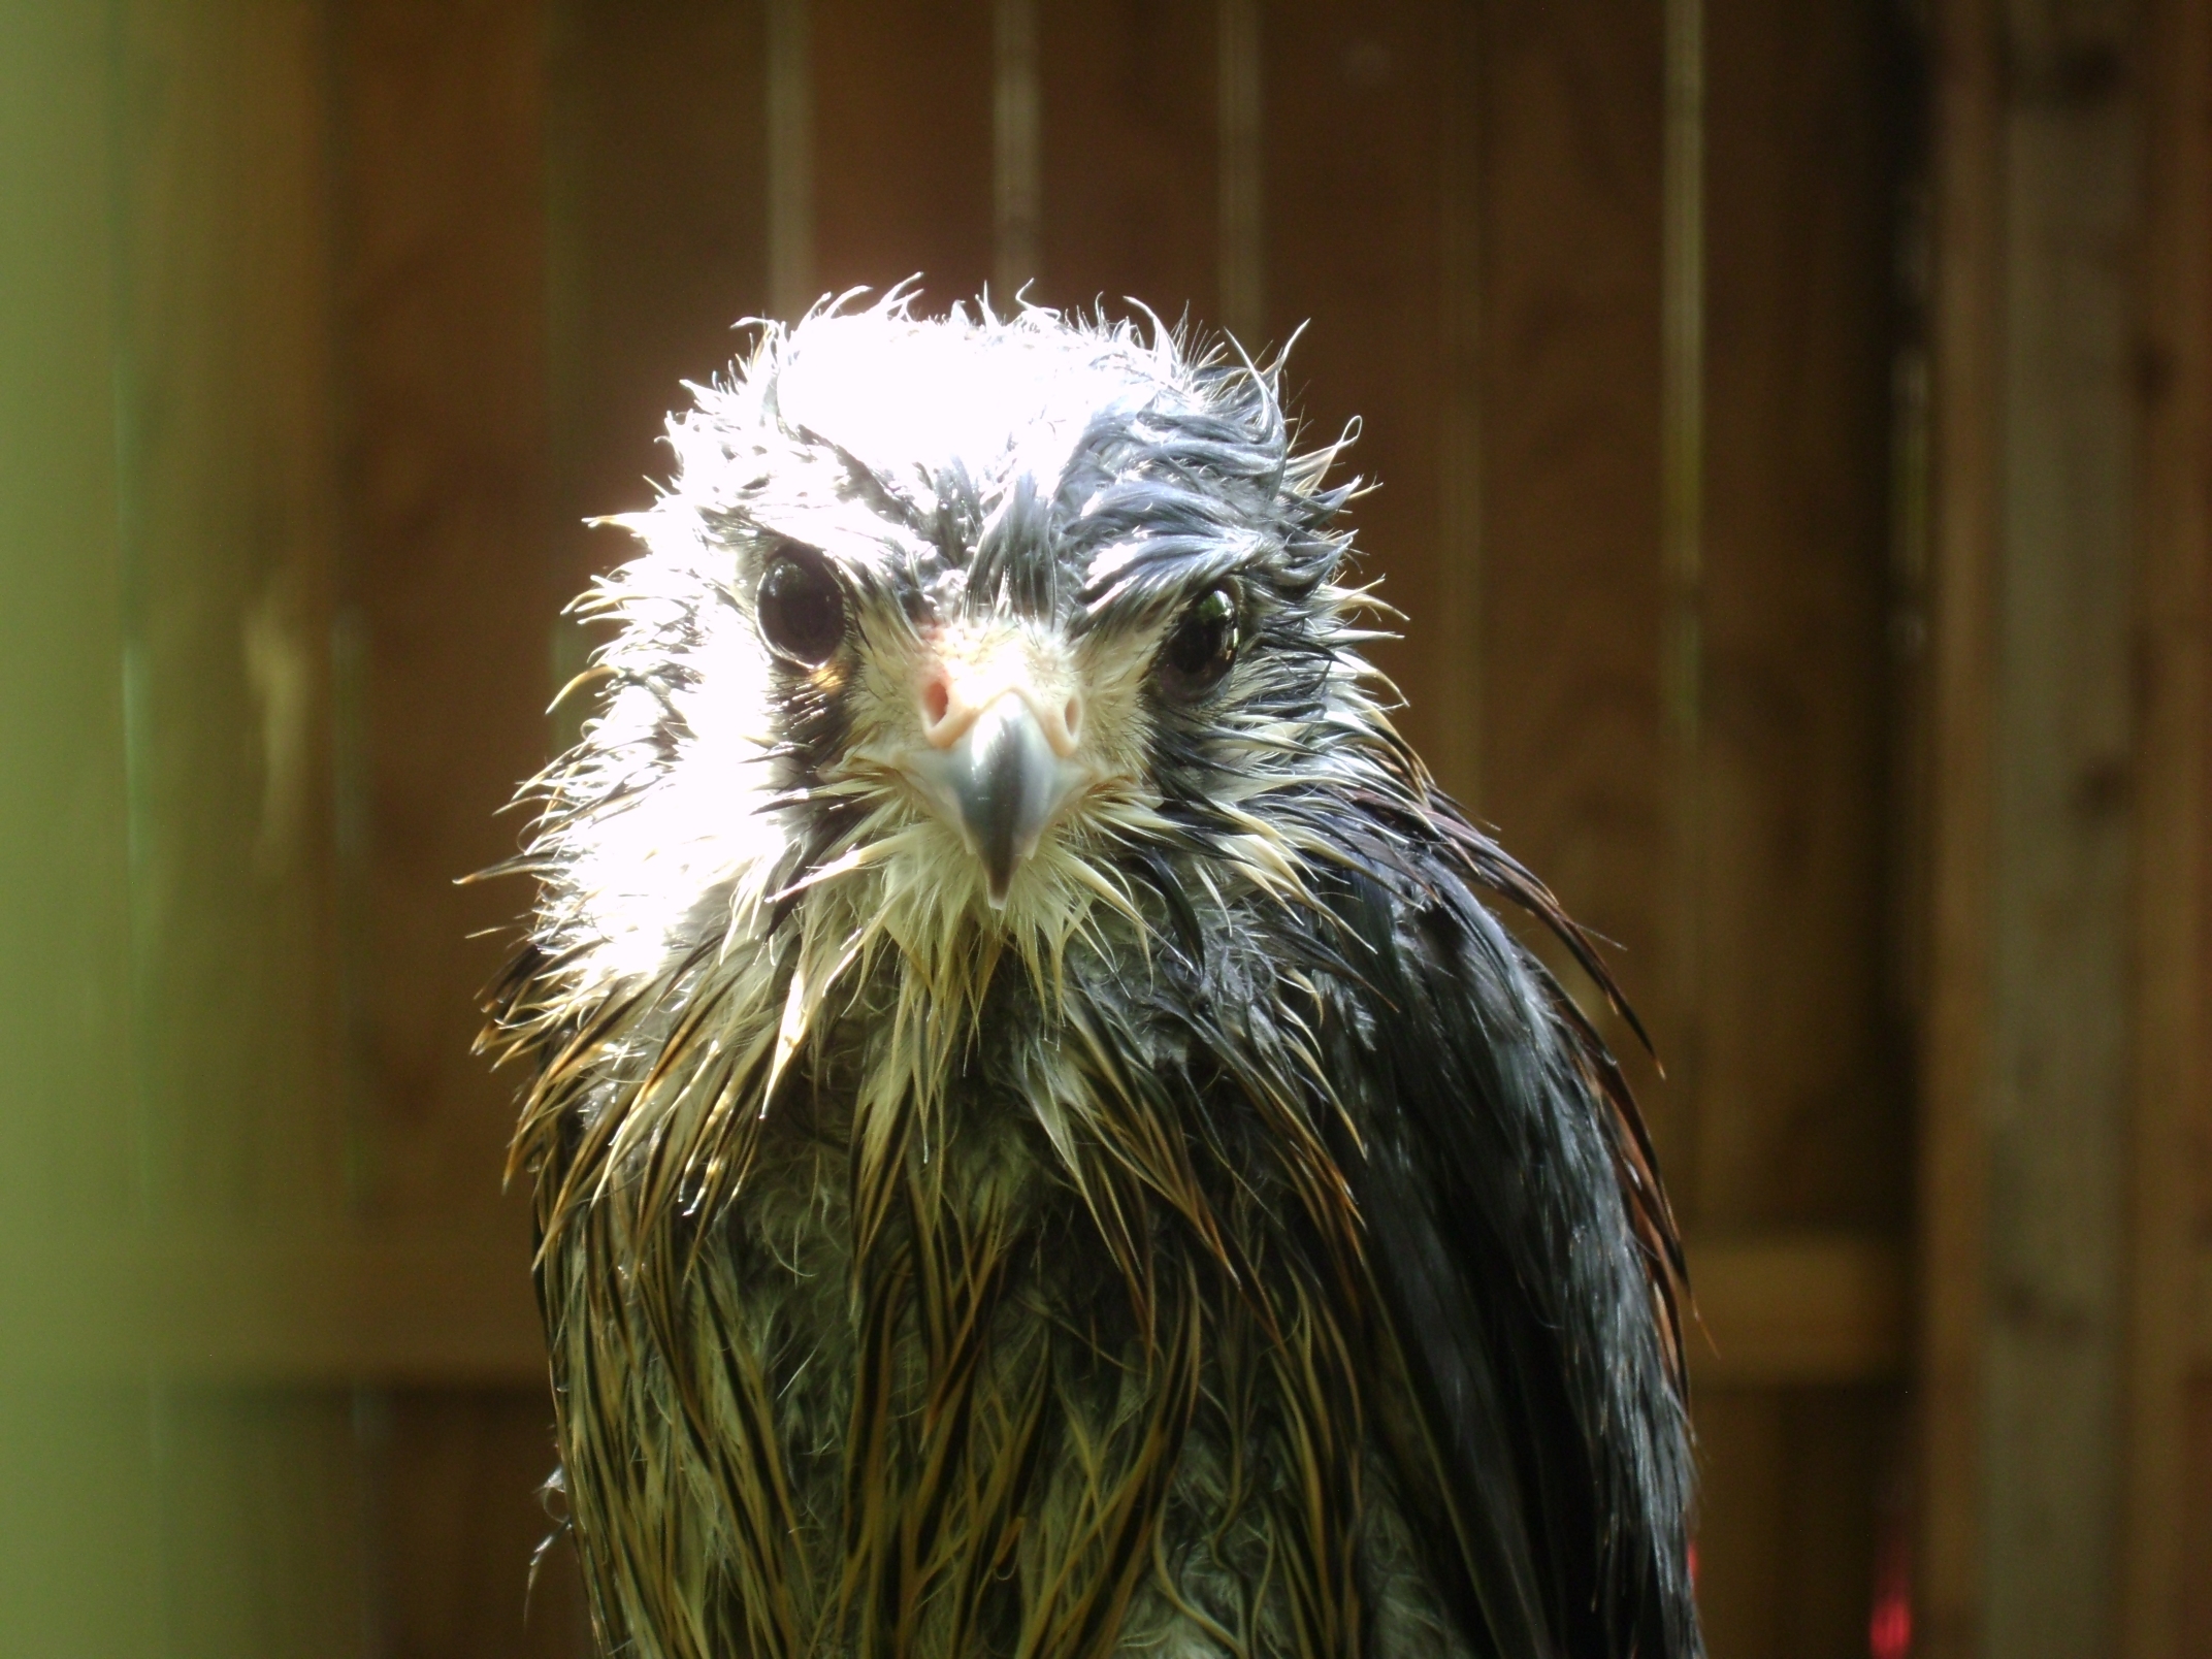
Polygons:
[[1944,1655],[2101,1652],[2121,1613],[2132,29],[2126,7],[1973,0],[1940,22],[1922,1239]]

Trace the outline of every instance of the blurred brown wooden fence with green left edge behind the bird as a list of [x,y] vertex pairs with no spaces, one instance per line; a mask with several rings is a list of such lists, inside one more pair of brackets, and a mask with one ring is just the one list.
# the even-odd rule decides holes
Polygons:
[[453,880],[911,272],[1312,323],[1666,1062],[1714,1659],[2212,1655],[2205,0],[0,0],[0,1652],[588,1650]]

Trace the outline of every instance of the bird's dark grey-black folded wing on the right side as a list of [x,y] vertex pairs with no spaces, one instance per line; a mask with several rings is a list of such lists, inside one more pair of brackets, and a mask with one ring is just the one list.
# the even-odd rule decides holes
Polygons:
[[1610,1055],[1478,898],[1586,942],[1449,803],[1334,825],[1334,1071],[1398,1387],[1400,1502],[1478,1652],[1692,1659],[1679,1243]]

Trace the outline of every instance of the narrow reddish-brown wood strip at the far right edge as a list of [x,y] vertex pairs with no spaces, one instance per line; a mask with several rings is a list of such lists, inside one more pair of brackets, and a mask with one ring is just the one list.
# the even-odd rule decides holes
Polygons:
[[[2212,1469],[2190,1451],[2199,1197],[2212,1148],[2212,13],[2157,0],[2143,64],[2143,398],[2135,604],[2135,1110],[2119,1652],[2212,1652]],[[2212,1604],[2208,1604],[2212,1606]]]

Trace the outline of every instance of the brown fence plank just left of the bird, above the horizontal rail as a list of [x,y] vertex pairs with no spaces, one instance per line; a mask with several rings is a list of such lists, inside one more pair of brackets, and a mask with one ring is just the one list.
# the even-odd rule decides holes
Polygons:
[[544,761],[566,599],[544,553],[544,18],[356,7],[336,64],[361,1190],[453,1217],[498,1203],[513,1084],[469,1044],[529,902],[453,880],[515,847],[495,814]]

